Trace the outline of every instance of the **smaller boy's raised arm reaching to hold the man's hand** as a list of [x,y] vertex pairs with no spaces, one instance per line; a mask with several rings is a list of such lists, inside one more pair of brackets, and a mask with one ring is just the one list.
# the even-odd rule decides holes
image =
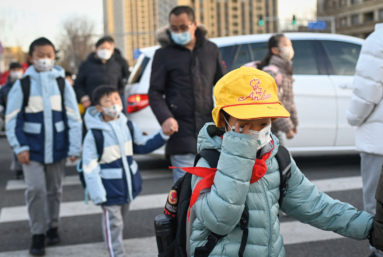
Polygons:
[[163,146],[168,140],[169,136],[166,136],[162,130],[158,133],[144,136],[141,129],[132,122],[133,125],[133,152],[136,154],[147,154],[151,153],[154,150],[157,150]]

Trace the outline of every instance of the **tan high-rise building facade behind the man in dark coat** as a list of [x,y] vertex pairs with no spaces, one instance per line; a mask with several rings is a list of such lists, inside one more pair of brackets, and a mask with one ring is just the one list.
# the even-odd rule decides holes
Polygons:
[[[209,37],[274,33],[278,23],[278,0],[103,0],[104,32],[130,63],[138,49],[156,45],[155,31],[168,24],[177,5],[194,8],[196,20],[204,24]],[[259,26],[259,17],[264,25]]]

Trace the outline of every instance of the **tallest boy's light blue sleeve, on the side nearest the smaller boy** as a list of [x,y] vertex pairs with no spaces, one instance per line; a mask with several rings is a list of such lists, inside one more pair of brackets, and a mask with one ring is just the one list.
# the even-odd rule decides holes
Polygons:
[[82,120],[76,95],[72,86],[65,80],[64,105],[69,127],[69,156],[80,156],[82,141]]

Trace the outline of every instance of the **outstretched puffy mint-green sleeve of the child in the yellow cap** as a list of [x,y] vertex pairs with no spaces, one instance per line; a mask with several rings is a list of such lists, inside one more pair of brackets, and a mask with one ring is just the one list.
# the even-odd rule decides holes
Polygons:
[[354,239],[366,239],[372,227],[373,216],[320,192],[305,178],[294,160],[291,161],[291,178],[282,210],[314,227]]

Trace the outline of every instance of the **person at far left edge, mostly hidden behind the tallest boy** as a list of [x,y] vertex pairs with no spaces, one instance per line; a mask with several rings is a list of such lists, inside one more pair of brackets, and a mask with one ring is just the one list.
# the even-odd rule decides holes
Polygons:
[[[9,77],[7,83],[0,89],[0,109],[3,112],[3,117],[5,118],[5,113],[7,112],[7,101],[9,91],[12,89],[13,84],[23,77],[24,69],[19,62],[12,62],[9,65]],[[23,169],[21,163],[17,160],[16,155],[12,154],[12,163],[11,170],[15,172],[16,179],[21,179],[23,177]]]

